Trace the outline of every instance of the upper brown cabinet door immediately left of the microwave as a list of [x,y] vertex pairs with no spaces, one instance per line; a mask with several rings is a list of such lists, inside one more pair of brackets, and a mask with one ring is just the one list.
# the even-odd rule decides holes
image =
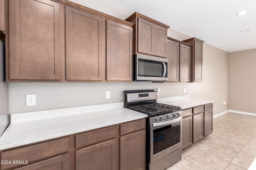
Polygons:
[[132,81],[133,28],[107,20],[107,80]]

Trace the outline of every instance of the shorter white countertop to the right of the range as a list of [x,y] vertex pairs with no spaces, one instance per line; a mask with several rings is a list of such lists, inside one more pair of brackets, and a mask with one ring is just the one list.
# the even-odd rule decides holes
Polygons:
[[174,106],[180,106],[182,109],[188,109],[191,107],[196,107],[200,105],[214,103],[214,100],[204,100],[204,99],[193,99],[189,96],[178,96],[178,97],[168,97],[168,98],[159,98],[158,103],[169,104]]

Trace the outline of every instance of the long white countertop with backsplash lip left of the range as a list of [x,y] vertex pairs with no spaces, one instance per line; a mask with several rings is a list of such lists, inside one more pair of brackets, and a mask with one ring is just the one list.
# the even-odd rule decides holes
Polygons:
[[[71,112],[70,114],[65,113],[66,109],[39,111],[38,113],[33,112],[33,116],[28,117],[29,121],[24,117],[31,115],[31,112],[27,114],[18,113],[11,115],[11,119],[13,118],[16,121],[13,120],[0,137],[0,150],[148,117],[148,115],[144,113],[126,109],[123,106],[123,102],[120,102],[114,105],[104,104],[67,108],[69,111],[79,109],[80,112],[82,110],[85,112],[77,114]],[[102,107],[108,109],[103,110]],[[100,111],[95,111],[94,109]],[[60,110],[63,112],[64,116],[59,116]],[[56,112],[55,115],[53,111]],[[51,114],[49,114],[49,112]],[[36,114],[38,116],[36,116]],[[42,119],[43,114],[48,118]],[[18,121],[17,117],[23,117],[23,120]],[[38,117],[40,117],[40,119],[37,119]]]

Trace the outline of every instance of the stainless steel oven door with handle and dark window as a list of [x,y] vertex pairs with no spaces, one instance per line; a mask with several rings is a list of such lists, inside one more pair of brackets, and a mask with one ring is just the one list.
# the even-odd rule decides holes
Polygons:
[[150,123],[150,163],[182,147],[182,116]]

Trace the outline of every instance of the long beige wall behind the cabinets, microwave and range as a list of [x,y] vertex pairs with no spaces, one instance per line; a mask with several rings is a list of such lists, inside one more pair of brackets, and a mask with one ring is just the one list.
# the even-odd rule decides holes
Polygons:
[[[117,6],[102,0],[73,0],[84,6],[125,19],[135,11],[120,10]],[[173,29],[168,36],[178,40],[190,38]],[[192,35],[193,36],[193,35]],[[214,114],[228,110],[228,52],[204,43],[203,82],[194,83],[9,83],[9,111],[22,113],[45,109],[88,106],[113,102],[124,102],[124,90],[160,88],[159,98],[190,95],[191,98],[215,100]],[[183,93],[186,88],[186,93]],[[105,91],[110,90],[110,99]],[[26,94],[36,94],[36,106],[26,106]],[[222,105],[226,101],[227,105]]]

